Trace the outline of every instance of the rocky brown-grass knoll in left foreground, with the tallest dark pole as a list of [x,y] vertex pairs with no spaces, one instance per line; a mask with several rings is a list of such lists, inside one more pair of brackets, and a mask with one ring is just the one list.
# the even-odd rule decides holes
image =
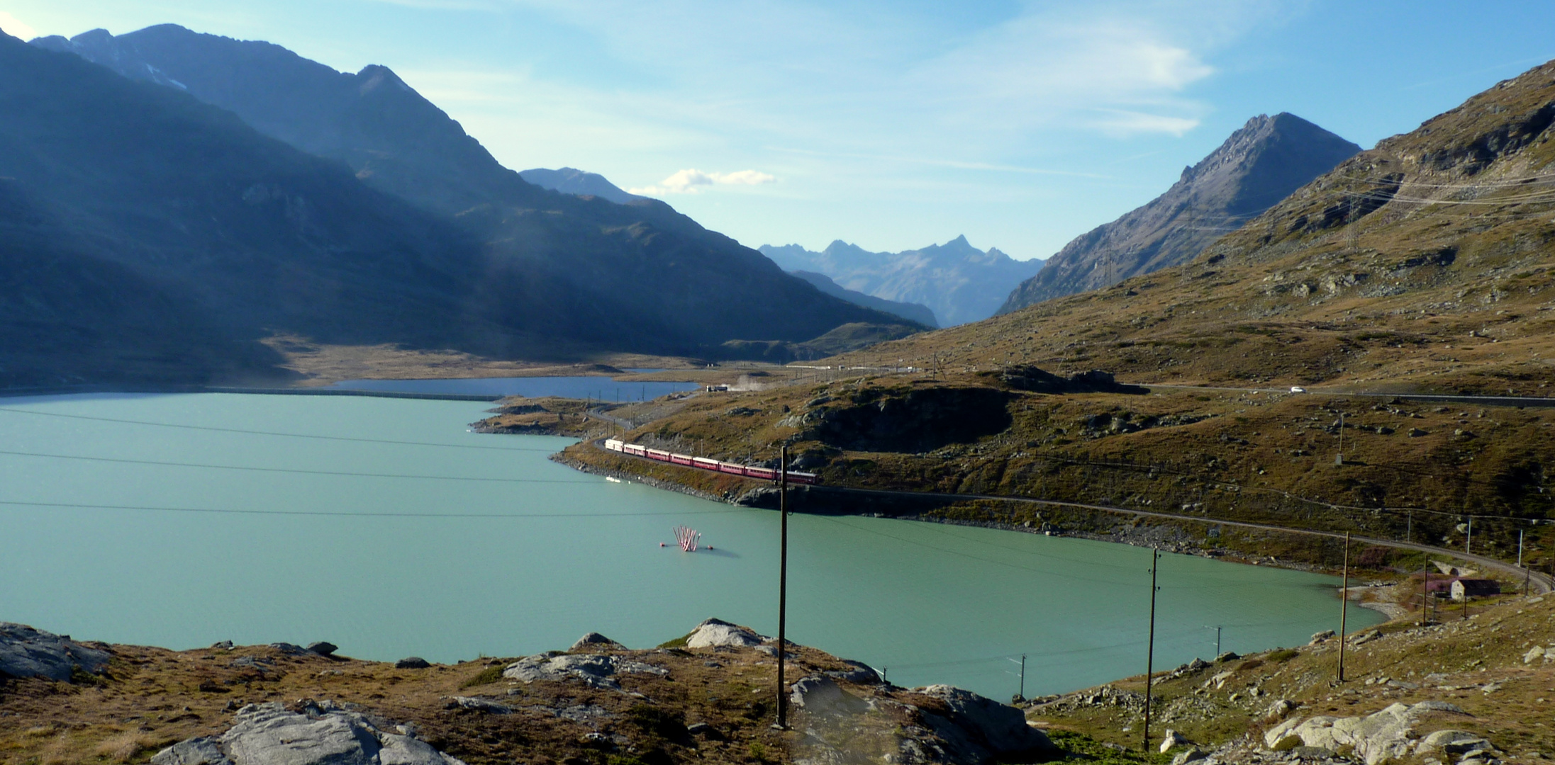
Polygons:
[[6,763],[480,765],[1042,762],[1062,753],[1012,706],[902,689],[720,620],[650,650],[589,634],[568,651],[434,665],[330,644],[171,651],[0,625]]

